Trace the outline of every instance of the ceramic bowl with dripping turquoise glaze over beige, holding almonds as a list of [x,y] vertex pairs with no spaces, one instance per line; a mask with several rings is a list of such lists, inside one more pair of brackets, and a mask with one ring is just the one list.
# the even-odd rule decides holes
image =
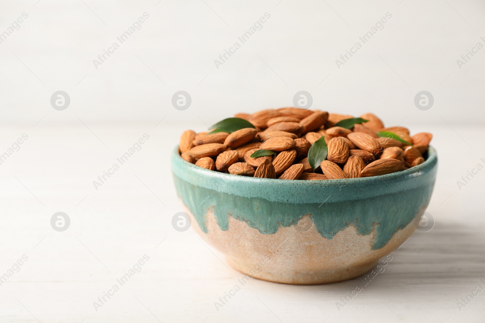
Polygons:
[[299,181],[203,169],[177,147],[172,172],[192,227],[235,269],[279,283],[324,284],[365,274],[413,233],[436,179],[436,151],[425,157],[387,175]]

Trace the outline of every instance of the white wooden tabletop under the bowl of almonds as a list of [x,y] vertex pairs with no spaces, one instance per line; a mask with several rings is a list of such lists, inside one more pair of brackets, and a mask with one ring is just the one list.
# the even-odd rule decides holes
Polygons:
[[[435,134],[439,171],[428,208],[435,227],[415,232],[343,308],[336,303],[363,285],[359,279],[321,286],[252,279],[217,310],[214,302],[243,275],[194,231],[173,229],[182,209],[169,155],[188,125],[157,123],[0,129],[0,154],[29,136],[0,165],[0,275],[28,257],[0,286],[1,322],[485,322],[485,292],[457,306],[485,288],[485,171],[461,190],[456,184],[484,164],[483,128],[408,125]],[[96,190],[97,176],[145,133],[142,149]],[[66,231],[52,229],[56,212],[69,216]],[[144,255],[149,260],[121,286],[117,279]],[[114,284],[119,290],[95,309]]]

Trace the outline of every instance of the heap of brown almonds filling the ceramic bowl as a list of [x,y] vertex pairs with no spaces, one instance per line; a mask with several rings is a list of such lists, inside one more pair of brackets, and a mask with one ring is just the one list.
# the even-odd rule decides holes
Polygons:
[[[199,167],[234,175],[286,180],[326,180],[370,177],[408,169],[424,162],[433,135],[410,136],[403,126],[385,127],[372,113],[360,118],[350,129],[335,126],[350,115],[297,108],[267,109],[253,114],[238,113],[254,125],[229,132],[187,130],[180,137],[183,159]],[[391,132],[407,143],[379,137]],[[326,160],[316,169],[308,162],[308,150],[324,137]],[[398,138],[398,139],[399,139]],[[251,157],[261,149],[273,155]]]

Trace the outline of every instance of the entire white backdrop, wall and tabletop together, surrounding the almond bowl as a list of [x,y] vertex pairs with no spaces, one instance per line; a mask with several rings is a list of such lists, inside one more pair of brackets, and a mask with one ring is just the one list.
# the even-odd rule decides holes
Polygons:
[[[29,15],[0,44],[0,154],[29,136],[0,165],[0,275],[29,257],[0,286],[1,322],[485,322],[485,292],[456,305],[485,287],[485,173],[457,185],[485,166],[485,49],[461,69],[456,62],[485,45],[483,2],[83,1],[0,5],[0,33]],[[93,60],[145,12],[142,29],[96,69]],[[214,60],[266,12],[262,30],[217,69]],[[335,60],[388,12],[385,28],[339,69]],[[71,99],[63,111],[50,105],[59,90]],[[180,90],[192,97],[185,111],[171,105]],[[372,111],[388,126],[432,132],[436,225],[393,252],[386,272],[340,311],[335,303],[356,280],[253,279],[217,311],[242,274],[192,230],[172,228],[182,209],[169,154],[185,129],[291,106],[301,90],[312,108]],[[413,102],[422,90],[435,98],[427,111]],[[145,133],[142,150],[96,190],[97,176]],[[64,232],[50,227],[59,211],[71,219]],[[97,297],[145,254],[143,270],[96,311]]]

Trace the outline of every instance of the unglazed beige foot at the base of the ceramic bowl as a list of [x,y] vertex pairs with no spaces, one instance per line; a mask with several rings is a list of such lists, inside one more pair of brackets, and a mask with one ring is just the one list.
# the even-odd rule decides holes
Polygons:
[[[344,266],[319,271],[297,271],[274,270],[273,268],[265,268],[265,266],[260,264],[248,263],[234,257],[227,257],[227,261],[234,269],[247,275],[247,278],[254,277],[275,283],[292,285],[319,285],[353,279],[371,271],[379,263],[378,260],[375,260],[364,264],[353,265],[351,268]],[[242,279],[244,280],[245,278]]]

